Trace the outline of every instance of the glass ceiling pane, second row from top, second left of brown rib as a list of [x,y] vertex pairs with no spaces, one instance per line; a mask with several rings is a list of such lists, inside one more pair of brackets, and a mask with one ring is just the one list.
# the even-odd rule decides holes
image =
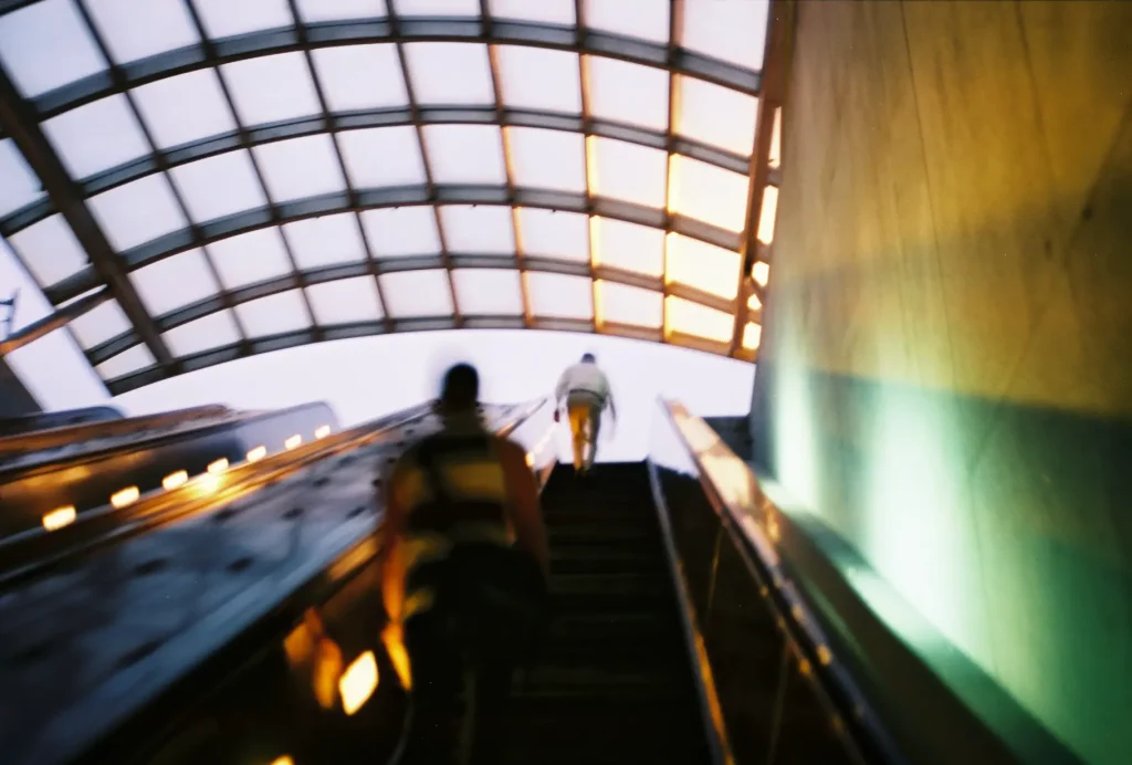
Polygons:
[[668,72],[655,67],[585,57],[590,113],[653,130],[668,128]]

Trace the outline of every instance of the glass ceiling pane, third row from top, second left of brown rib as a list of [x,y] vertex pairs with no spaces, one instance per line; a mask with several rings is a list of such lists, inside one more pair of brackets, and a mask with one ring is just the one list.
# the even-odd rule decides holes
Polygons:
[[648,207],[664,206],[668,155],[657,148],[611,138],[590,138],[594,194]]

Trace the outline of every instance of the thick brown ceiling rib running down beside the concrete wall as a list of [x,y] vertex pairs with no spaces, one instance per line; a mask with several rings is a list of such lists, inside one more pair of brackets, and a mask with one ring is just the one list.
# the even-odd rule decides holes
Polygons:
[[747,318],[751,316],[747,307],[751,295],[758,295],[760,303],[766,304],[765,291],[755,282],[752,268],[760,257],[765,257],[762,253],[767,249],[758,241],[758,224],[763,212],[763,191],[770,180],[774,113],[781,109],[786,92],[790,5],[787,0],[771,0],[767,10],[770,18],[766,24],[766,46],[763,51],[762,92],[758,96],[758,117],[755,121],[755,143],[751,152],[747,220],[739,249],[739,255],[743,256],[743,274],[739,276],[739,303],[735,311],[735,327],[731,330],[729,354],[732,356],[739,355],[743,351],[743,335],[747,329]]

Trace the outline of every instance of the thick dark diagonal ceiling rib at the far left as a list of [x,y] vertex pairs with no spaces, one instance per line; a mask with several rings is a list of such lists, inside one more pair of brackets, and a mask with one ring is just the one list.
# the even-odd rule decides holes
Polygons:
[[43,188],[63,218],[70,225],[75,238],[95,272],[110,287],[110,292],[126,313],[138,337],[146,344],[157,366],[169,371],[173,356],[157,333],[153,319],[138,298],[137,291],[126,276],[126,269],[114,253],[113,247],[103,233],[94,215],[83,201],[78,184],[70,179],[36,119],[35,112],[16,91],[8,74],[0,68],[0,128],[19,147],[24,158],[40,178]]

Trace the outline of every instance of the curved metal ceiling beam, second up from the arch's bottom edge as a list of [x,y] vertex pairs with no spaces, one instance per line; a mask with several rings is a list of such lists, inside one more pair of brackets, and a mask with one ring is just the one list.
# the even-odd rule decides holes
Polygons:
[[[515,270],[516,263],[515,257],[512,255],[452,253],[448,260],[452,264],[453,269],[494,268],[501,270]],[[523,272],[530,270],[548,274],[564,274],[567,276],[585,276],[586,278],[589,278],[591,274],[591,266],[585,260],[557,260],[554,258],[524,257],[522,264]],[[327,282],[355,278],[358,276],[369,276],[372,274],[372,265],[377,266],[378,274],[394,274],[406,270],[439,270],[445,268],[445,260],[440,255],[429,255],[408,258],[388,258],[385,260],[376,260],[374,264],[370,264],[369,261],[357,261],[338,266],[311,268],[300,273],[285,274],[275,278],[265,280],[263,282],[257,282],[256,284],[249,284],[248,286],[240,287],[239,290],[231,290],[223,295],[217,294],[211,298],[205,298],[204,300],[179,308],[175,311],[170,311],[169,313],[154,319],[154,323],[160,332],[169,332],[174,327],[195,321],[199,318],[208,316],[209,313],[225,310],[230,307],[229,303],[239,306],[240,303],[258,300],[259,298],[267,298],[281,292],[298,290],[302,286],[325,284]],[[649,276],[646,274],[614,268],[611,266],[597,266],[594,268],[593,276],[594,278],[603,282],[615,282],[617,284],[626,284],[641,290],[649,290],[650,292],[659,292],[663,295],[675,295],[726,313],[734,313],[738,308],[735,299],[728,300],[726,298],[720,298],[719,295],[711,294],[685,284],[664,284],[663,277],[661,276]],[[396,319],[392,317],[386,318],[396,323]],[[464,317],[464,320],[465,323],[474,321],[475,317]],[[531,318],[531,321],[534,321],[534,317]],[[104,361],[108,361],[119,353],[122,353],[123,351],[127,351],[131,346],[136,345],[137,342],[137,335],[132,330],[128,330],[91,349],[87,353],[87,358],[89,359],[92,366],[97,367]]]

